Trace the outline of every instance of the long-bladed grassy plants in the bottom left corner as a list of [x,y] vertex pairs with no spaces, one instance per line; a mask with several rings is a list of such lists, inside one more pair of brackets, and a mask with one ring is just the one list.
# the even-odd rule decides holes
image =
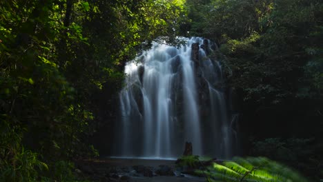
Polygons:
[[39,154],[23,148],[23,129],[8,122],[5,115],[0,128],[0,181],[36,181],[48,165],[39,160]]

